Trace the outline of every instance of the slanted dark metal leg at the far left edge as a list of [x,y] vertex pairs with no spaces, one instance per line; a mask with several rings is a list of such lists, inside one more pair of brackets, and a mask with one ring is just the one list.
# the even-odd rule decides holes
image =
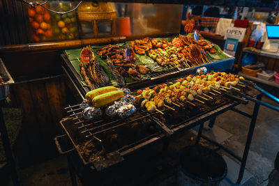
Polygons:
[[17,177],[17,170],[15,169],[15,160],[13,158],[13,152],[12,152],[12,148],[10,146],[10,140],[8,138],[6,124],[3,119],[1,103],[0,103],[0,133],[1,133],[1,139],[3,141],[3,147],[5,150],[5,154],[6,154],[8,169],[10,169],[10,174],[12,176],[13,185],[20,185],[20,181]]

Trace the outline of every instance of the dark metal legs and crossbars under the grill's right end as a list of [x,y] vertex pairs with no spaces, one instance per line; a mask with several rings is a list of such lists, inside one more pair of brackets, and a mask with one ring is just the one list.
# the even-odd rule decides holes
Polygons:
[[[257,100],[262,100],[262,95],[258,95]],[[255,124],[256,124],[256,121],[257,121],[257,114],[259,112],[259,105],[260,105],[259,103],[255,102],[255,106],[254,106],[254,110],[253,110],[252,115],[250,115],[250,114],[248,114],[244,111],[240,111],[239,109],[235,109],[235,108],[232,109],[232,111],[235,111],[235,112],[237,112],[237,113],[239,113],[243,116],[246,116],[248,118],[251,118],[250,127],[249,127],[249,131],[248,131],[247,139],[246,139],[246,145],[245,145],[242,157],[239,157],[239,155],[236,155],[234,152],[225,148],[221,144],[218,144],[216,141],[213,141],[213,140],[209,139],[208,137],[205,137],[204,135],[202,135],[202,130],[204,128],[204,123],[202,123],[199,126],[199,133],[197,134],[196,144],[199,143],[199,139],[202,137],[203,139],[206,139],[206,141],[211,142],[211,144],[214,144],[215,146],[218,146],[218,148],[225,150],[227,153],[229,153],[229,155],[232,155],[234,158],[236,158],[236,160],[239,160],[239,162],[241,162],[241,166],[240,166],[240,170],[239,170],[239,178],[236,181],[237,184],[240,184],[241,180],[243,178],[243,174],[244,174],[244,170],[245,170],[245,166],[246,166],[246,161],[247,161],[247,157],[248,157],[248,153],[249,153],[250,145],[251,145],[251,141],[252,141],[252,135],[254,133]],[[210,121],[210,127],[213,126],[214,122],[215,122],[215,118],[213,118]]]

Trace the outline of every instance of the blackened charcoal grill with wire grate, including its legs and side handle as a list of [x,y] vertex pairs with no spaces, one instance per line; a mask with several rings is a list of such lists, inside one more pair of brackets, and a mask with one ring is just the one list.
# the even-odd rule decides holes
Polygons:
[[[179,77],[176,77],[175,79],[177,78]],[[168,82],[172,82],[173,80],[174,79],[170,79]],[[140,86],[143,85],[140,84]],[[238,88],[240,88],[241,91],[252,95],[254,98],[257,97],[259,100],[261,98],[261,94],[259,94],[255,88],[244,88],[242,86],[239,86]],[[232,93],[237,96],[234,96],[235,98],[227,96],[227,94],[232,95]],[[69,105],[66,107],[68,118],[61,121],[61,126],[65,130],[66,135],[56,137],[55,140],[60,153],[77,153],[82,162],[82,166],[89,167],[88,169],[91,171],[93,170],[96,173],[109,169],[111,166],[119,164],[120,162],[125,162],[126,158],[129,157],[130,154],[137,152],[137,150],[140,150],[144,146],[150,146],[151,144],[171,139],[171,137],[175,134],[189,130],[197,125],[200,125],[197,143],[201,137],[207,139],[202,135],[202,128],[204,126],[203,123],[205,121],[210,121],[210,125],[213,127],[216,116],[223,114],[225,111],[232,110],[242,114],[243,116],[251,118],[250,130],[248,132],[243,157],[239,157],[215,141],[211,141],[210,139],[207,140],[218,146],[219,149],[225,150],[227,153],[235,157],[236,160],[241,162],[241,170],[239,172],[238,180],[240,183],[245,169],[259,104],[255,104],[252,115],[247,114],[234,108],[243,102],[246,104],[248,102],[245,98],[239,97],[241,97],[241,94],[238,95],[238,93],[229,90],[220,95],[214,95],[213,100],[205,102],[205,104],[194,102],[195,106],[192,104],[185,104],[181,107],[175,106],[175,111],[165,107],[163,109],[160,108],[160,111],[162,111],[164,115],[161,115],[157,111],[149,113],[145,109],[137,108],[137,112],[133,115],[133,117],[125,120],[117,118],[110,119],[105,117],[98,118],[95,121],[84,120],[81,115],[79,104],[73,106]],[[142,123],[148,123],[149,127],[147,127],[146,130],[148,132],[144,132],[144,130],[140,127],[137,128],[137,126],[142,125]],[[128,134],[130,131],[132,131],[132,134],[129,136]],[[112,137],[113,139],[108,138],[107,136]],[[65,138],[70,141],[69,146],[72,146],[72,148],[64,151],[62,150],[63,146],[61,146],[61,141],[65,140]],[[84,155],[84,153],[80,150],[80,146],[85,144],[86,141],[91,141],[91,143],[93,143],[93,149],[91,149],[93,152],[92,157],[89,157],[90,155]],[[123,143],[123,141],[125,141],[125,143]],[[165,146],[167,146],[167,143],[165,143]],[[72,162],[69,163],[69,166],[70,164],[72,164]],[[73,170],[71,173],[73,173]],[[73,178],[73,184],[75,184],[75,178],[73,174],[71,175],[71,178]]]

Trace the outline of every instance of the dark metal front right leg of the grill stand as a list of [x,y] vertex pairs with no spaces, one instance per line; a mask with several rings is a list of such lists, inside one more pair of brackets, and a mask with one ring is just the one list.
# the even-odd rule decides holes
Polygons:
[[[262,100],[262,95],[257,96],[257,100]],[[246,139],[246,145],[245,145],[244,152],[243,152],[241,167],[239,170],[239,178],[237,179],[237,182],[236,182],[238,184],[241,183],[241,180],[243,178],[243,173],[244,173],[245,166],[246,166],[246,161],[247,161],[247,157],[248,157],[248,153],[249,153],[249,149],[250,149],[250,145],[251,145],[251,141],[252,141],[252,134],[254,132],[255,124],[257,121],[258,112],[259,112],[259,103],[256,102],[253,113],[252,113],[252,119],[251,119],[251,123],[250,123],[250,127],[249,127],[248,136]]]

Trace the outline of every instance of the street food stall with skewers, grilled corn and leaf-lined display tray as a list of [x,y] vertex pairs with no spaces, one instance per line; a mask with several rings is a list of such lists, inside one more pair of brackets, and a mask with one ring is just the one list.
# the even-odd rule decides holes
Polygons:
[[[278,108],[261,102],[262,93],[254,84],[230,73],[234,57],[195,31],[193,22],[186,25],[186,35],[179,34],[181,1],[137,1],[127,6],[115,2],[116,8],[102,6],[103,1],[66,6],[54,2],[41,10],[41,6],[29,6],[25,26],[31,26],[31,37],[26,40],[32,43],[11,42],[19,45],[0,48],[15,79],[11,94],[17,98],[22,93],[15,100],[24,108],[24,122],[31,124],[26,129],[43,121],[25,131],[26,136],[31,134],[27,141],[32,144],[25,156],[40,154],[34,153],[36,147],[43,152],[53,149],[49,139],[54,138],[55,148],[67,155],[72,184],[77,185],[77,175],[90,185],[92,178],[106,178],[110,173],[118,178],[115,167],[136,164],[133,155],[138,151],[149,157],[154,144],[163,144],[167,150],[177,134],[199,126],[196,144],[203,138],[239,160],[236,182],[241,183],[259,104]],[[75,8],[77,12],[68,13]],[[97,18],[80,18],[86,15],[84,8],[90,9],[87,16]],[[121,13],[116,13],[117,8]],[[49,14],[47,9],[64,13]],[[102,17],[100,10],[110,16]],[[166,15],[167,10],[172,14]],[[121,19],[126,17],[128,24]],[[89,24],[93,32],[86,33]],[[22,64],[22,58],[30,60]],[[235,108],[249,100],[255,102],[252,114]],[[41,114],[45,109],[50,115]],[[251,119],[242,156],[202,134],[204,122],[210,121],[213,127],[216,116],[228,110]],[[46,156],[54,155],[50,151]],[[124,171],[128,169],[123,166]],[[110,185],[114,179],[94,182]],[[119,180],[123,181],[120,176]]]

